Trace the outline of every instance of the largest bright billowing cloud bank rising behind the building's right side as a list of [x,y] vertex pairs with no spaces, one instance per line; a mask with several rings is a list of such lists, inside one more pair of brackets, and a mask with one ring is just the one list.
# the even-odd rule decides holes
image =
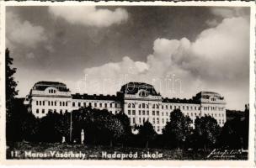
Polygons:
[[145,62],[125,56],[120,62],[86,68],[84,74],[79,92],[115,94],[126,82],[145,81],[163,97],[192,97],[210,90],[223,94],[228,106],[243,109],[248,97],[238,95],[248,92],[248,19],[223,18],[215,28],[198,34],[195,41],[156,39]]

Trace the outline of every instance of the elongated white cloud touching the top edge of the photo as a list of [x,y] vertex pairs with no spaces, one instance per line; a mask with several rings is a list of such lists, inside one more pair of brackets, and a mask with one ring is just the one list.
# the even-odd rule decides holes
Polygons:
[[123,8],[116,8],[115,11],[111,11],[94,6],[76,8],[51,6],[49,12],[56,18],[64,18],[71,24],[95,27],[109,27],[112,24],[121,24],[128,19],[128,13]]

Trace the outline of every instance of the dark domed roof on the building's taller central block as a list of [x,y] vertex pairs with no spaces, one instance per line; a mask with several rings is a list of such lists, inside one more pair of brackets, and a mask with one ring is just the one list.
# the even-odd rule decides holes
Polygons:
[[148,94],[152,96],[160,96],[160,93],[157,93],[155,88],[147,83],[143,82],[129,82],[123,85],[120,89],[120,92],[126,94],[136,94],[140,89],[146,90]]

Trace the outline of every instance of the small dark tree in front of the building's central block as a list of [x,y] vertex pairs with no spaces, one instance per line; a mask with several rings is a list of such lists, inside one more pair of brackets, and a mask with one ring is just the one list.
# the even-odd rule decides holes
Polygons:
[[146,148],[148,147],[149,141],[156,137],[157,133],[153,129],[152,123],[146,121],[143,125],[139,126],[138,136],[145,143]]

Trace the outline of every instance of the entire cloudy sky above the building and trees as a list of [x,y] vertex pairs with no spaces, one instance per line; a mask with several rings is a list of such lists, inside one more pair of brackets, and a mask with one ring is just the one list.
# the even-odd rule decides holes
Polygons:
[[19,97],[37,81],[73,93],[115,94],[129,81],[163,97],[219,92],[249,102],[249,8],[7,7],[6,47]]

